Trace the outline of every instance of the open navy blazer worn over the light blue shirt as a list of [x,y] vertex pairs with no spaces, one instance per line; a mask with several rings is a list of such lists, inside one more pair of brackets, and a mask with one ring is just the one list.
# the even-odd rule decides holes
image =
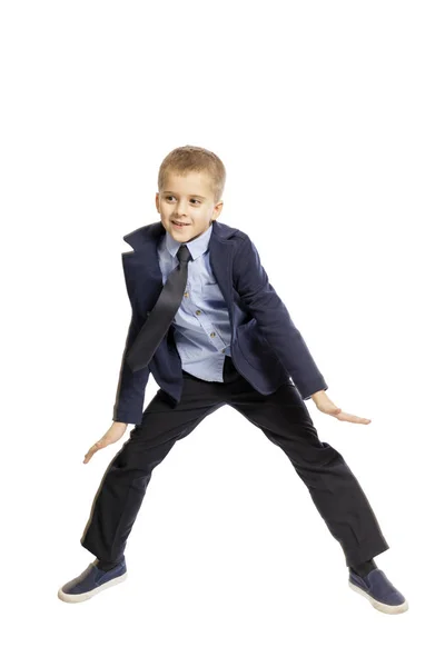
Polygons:
[[[212,220],[209,241],[211,270],[226,301],[230,326],[230,351],[235,367],[260,394],[273,394],[283,384],[294,384],[303,399],[327,389],[289,312],[268,281],[258,251],[246,232]],[[174,339],[174,325],[147,367],[135,372],[126,356],[162,290],[157,246],[167,233],[161,222],[127,233],[134,250],[122,252],[122,266],[131,321],[122,354],[113,406],[113,421],[139,425],[150,372],[158,386],[178,405],[182,391],[182,367]]]

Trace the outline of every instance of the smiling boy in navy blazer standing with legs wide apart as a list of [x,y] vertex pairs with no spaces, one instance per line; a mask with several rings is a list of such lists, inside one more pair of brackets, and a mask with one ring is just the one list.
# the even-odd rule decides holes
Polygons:
[[[248,235],[217,222],[226,171],[192,146],[162,161],[156,195],[160,222],[126,235],[122,253],[131,321],[121,360],[113,424],[87,452],[125,434],[95,498],[81,545],[97,558],[59,589],[67,603],[123,581],[123,550],[154,468],[175,442],[224,405],[241,412],[289,457],[340,544],[350,588],[386,614],[408,608],[373,557],[388,549],[377,519],[342,455],[318,439],[305,400],[339,420],[343,412],[289,312],[268,281]],[[160,389],[144,410],[152,372]]]

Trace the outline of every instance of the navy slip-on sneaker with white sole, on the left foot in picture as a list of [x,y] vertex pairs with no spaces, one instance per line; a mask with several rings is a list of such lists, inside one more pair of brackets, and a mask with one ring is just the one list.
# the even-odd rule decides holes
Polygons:
[[57,594],[59,599],[63,603],[83,603],[106,588],[121,584],[127,578],[125,556],[116,567],[108,571],[99,569],[98,563],[99,560],[96,558],[81,575],[63,584]]

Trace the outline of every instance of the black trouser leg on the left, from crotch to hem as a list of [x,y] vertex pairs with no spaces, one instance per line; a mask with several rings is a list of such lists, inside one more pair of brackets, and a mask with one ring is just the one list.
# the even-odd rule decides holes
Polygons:
[[159,389],[144,411],[142,421],[111,460],[96,494],[80,544],[99,560],[112,563],[122,555],[142,504],[154,468],[175,442],[188,436],[224,402],[207,382],[184,378],[180,402],[172,407]]

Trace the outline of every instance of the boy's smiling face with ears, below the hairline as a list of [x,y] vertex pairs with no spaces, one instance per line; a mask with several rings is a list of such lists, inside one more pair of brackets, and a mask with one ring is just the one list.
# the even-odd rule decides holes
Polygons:
[[[215,202],[210,179],[205,173],[190,171],[186,176],[168,172],[164,189],[156,193],[156,208],[162,227],[181,243],[192,241],[204,233],[222,209]],[[184,222],[182,227],[174,223]]]

